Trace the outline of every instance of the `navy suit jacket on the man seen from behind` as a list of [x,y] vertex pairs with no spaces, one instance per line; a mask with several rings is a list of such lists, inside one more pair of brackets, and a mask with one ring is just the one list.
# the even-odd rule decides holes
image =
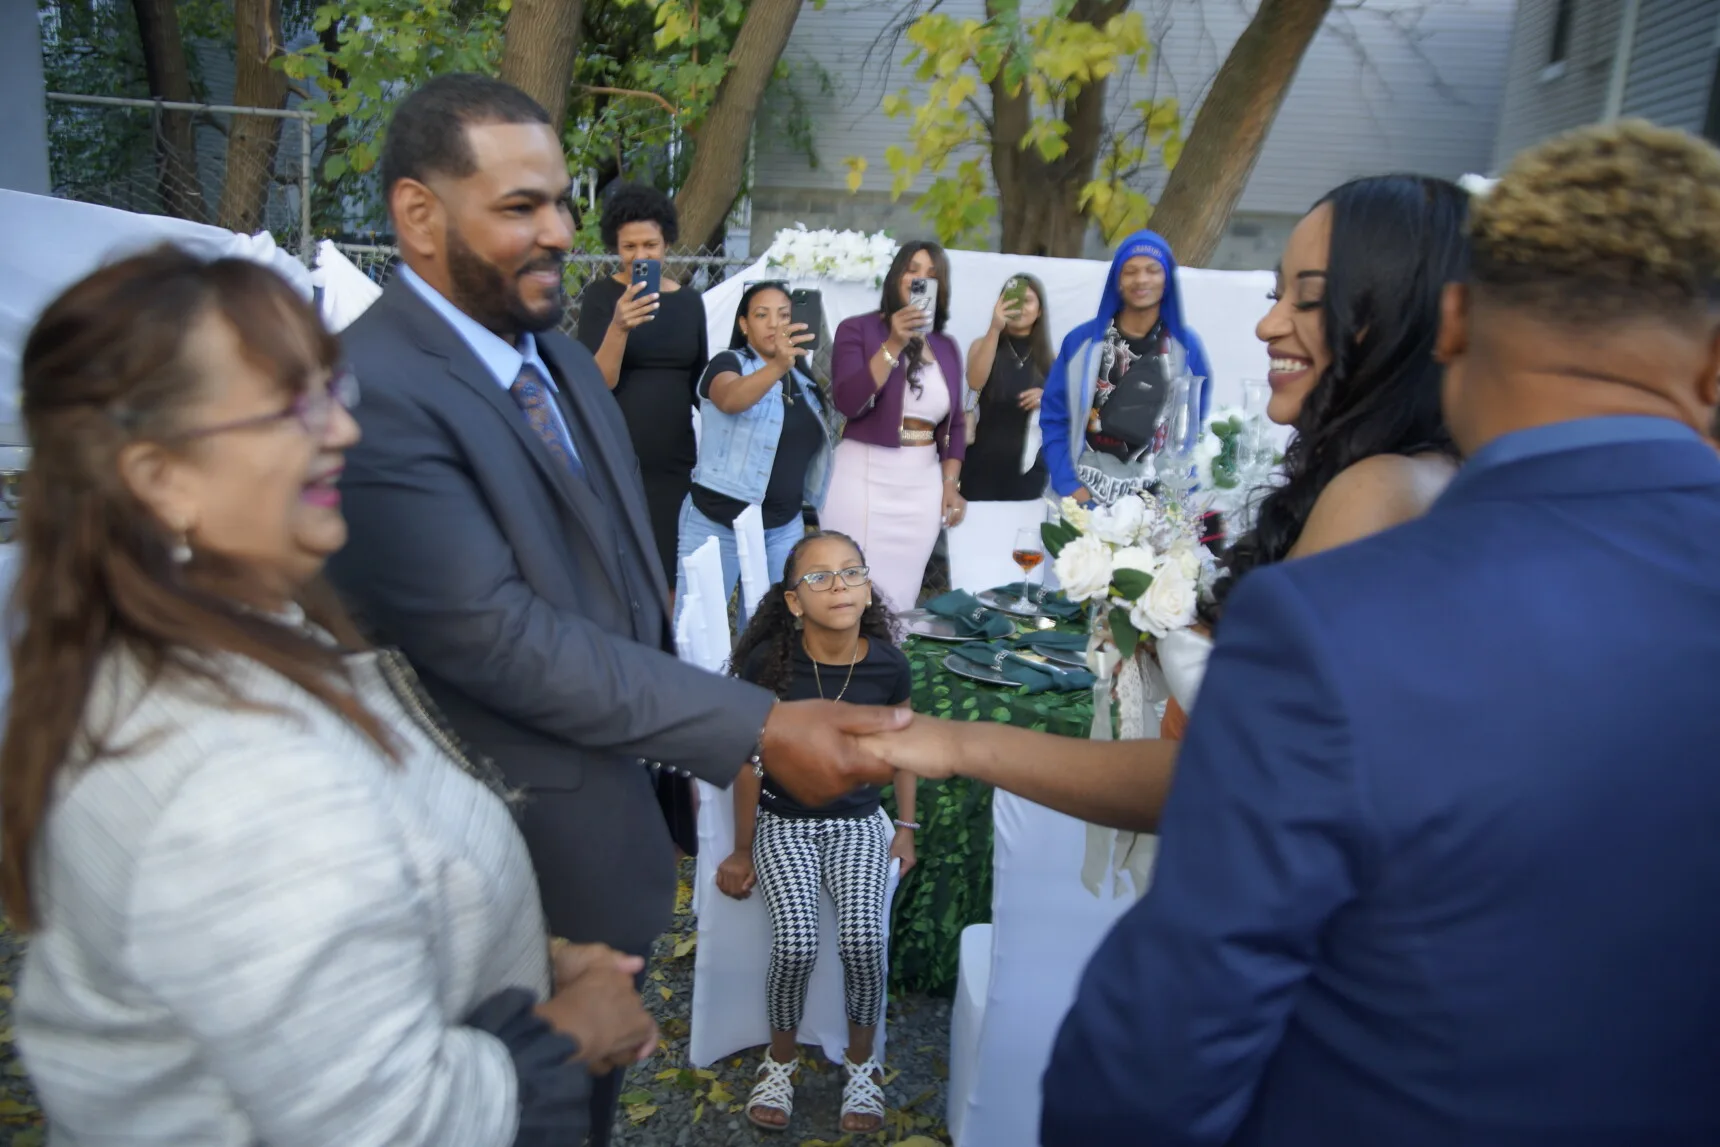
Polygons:
[[1720,1144],[1720,457],[1660,426],[1238,586],[1046,1147]]

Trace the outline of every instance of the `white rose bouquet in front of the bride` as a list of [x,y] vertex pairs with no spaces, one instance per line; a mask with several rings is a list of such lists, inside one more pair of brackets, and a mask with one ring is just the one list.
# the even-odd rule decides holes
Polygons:
[[1194,624],[1218,576],[1201,523],[1194,506],[1142,490],[1096,509],[1063,499],[1041,533],[1065,597],[1085,602],[1128,659],[1142,638]]

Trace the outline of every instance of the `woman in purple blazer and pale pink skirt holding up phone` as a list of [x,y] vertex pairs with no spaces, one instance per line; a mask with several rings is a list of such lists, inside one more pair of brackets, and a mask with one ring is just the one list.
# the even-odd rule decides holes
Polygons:
[[848,418],[819,523],[865,550],[891,609],[913,609],[937,531],[967,514],[961,459],[961,349],[949,322],[949,260],[910,242],[870,315],[836,328],[831,383]]

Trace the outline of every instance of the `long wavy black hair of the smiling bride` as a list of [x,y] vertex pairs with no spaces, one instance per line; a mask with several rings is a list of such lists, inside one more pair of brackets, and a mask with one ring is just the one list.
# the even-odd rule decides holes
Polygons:
[[1285,481],[1261,499],[1254,530],[1226,555],[1232,576],[1219,598],[1247,571],[1290,554],[1314,502],[1347,468],[1376,454],[1457,456],[1433,349],[1440,294],[1465,273],[1469,193],[1445,179],[1374,175],[1321,205],[1331,205],[1321,304],[1331,366],[1297,414]]

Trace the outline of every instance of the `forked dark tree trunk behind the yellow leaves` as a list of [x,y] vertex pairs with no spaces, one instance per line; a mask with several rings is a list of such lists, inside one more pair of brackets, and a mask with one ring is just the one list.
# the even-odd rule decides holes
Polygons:
[[[1128,0],[1077,0],[1068,19],[1099,26],[1127,7]],[[996,19],[996,9],[998,2],[987,0],[986,15]],[[1080,208],[1080,191],[1092,179],[1099,158],[1104,91],[1106,81],[1099,79],[1068,101],[1068,151],[1047,162],[1034,148],[1022,150],[1022,138],[1034,119],[1027,88],[1010,95],[1001,71],[991,83],[991,175],[998,184],[1004,253],[1080,258],[1087,246],[1087,215]]]

